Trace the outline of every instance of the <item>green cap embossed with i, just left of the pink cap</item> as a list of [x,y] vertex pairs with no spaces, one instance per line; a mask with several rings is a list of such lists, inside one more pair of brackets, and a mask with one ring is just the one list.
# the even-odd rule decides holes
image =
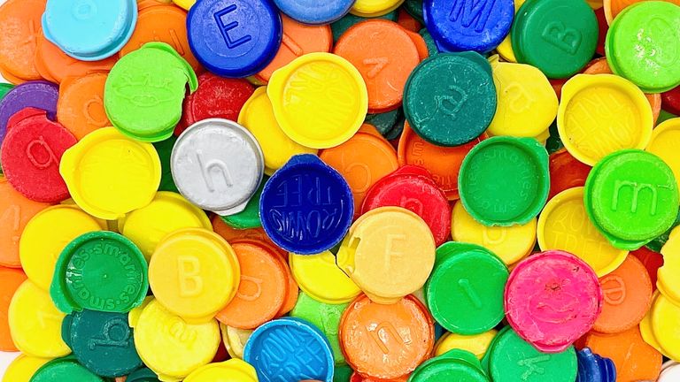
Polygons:
[[449,332],[480,334],[504,317],[508,271],[488,249],[449,241],[437,248],[435,269],[425,284],[432,317]]

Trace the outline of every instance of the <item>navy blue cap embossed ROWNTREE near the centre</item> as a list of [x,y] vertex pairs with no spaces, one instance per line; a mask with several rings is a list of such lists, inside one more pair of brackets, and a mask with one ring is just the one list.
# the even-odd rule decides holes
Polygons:
[[343,240],[352,224],[352,190],[340,173],[316,156],[290,158],[262,191],[259,216],[279,247],[319,254]]

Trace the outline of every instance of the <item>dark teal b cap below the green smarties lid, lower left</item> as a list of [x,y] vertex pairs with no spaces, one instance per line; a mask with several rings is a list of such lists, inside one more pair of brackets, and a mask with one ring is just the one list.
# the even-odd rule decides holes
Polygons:
[[61,336],[78,362],[98,376],[121,377],[142,366],[127,313],[72,313],[64,318]]

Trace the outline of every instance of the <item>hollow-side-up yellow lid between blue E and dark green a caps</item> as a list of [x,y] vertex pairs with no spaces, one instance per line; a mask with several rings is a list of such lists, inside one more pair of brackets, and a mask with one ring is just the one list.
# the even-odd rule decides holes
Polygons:
[[283,132],[313,149],[328,149],[352,138],[368,111],[361,74],[331,53],[310,53],[277,70],[267,95]]

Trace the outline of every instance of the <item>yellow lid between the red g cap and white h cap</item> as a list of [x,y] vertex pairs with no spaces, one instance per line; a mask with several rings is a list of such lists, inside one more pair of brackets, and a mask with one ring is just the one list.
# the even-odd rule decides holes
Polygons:
[[128,138],[115,127],[104,127],[67,149],[59,172],[82,210],[113,220],[151,202],[161,170],[151,143]]

